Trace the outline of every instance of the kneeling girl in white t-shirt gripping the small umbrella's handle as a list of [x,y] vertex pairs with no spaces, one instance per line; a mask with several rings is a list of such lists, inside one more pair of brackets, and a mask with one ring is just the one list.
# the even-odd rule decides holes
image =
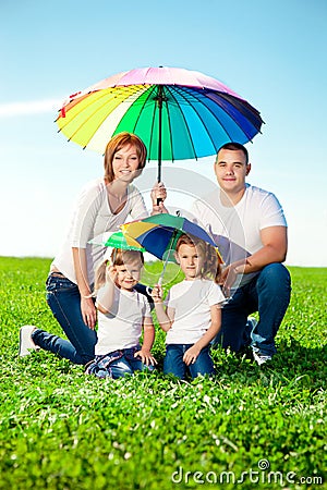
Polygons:
[[162,304],[162,289],[156,285],[153,298],[158,322],[167,332],[164,372],[184,379],[214,375],[209,343],[221,323],[225,302],[218,281],[219,264],[216,250],[202,240],[181,235],[175,259],[185,279],[174,284]]

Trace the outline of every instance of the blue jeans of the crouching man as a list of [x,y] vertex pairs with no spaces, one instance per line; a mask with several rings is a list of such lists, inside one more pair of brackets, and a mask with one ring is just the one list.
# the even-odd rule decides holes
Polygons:
[[[269,264],[223,305],[221,329],[213,344],[238,352],[251,343],[263,355],[276,353],[275,336],[290,303],[291,278],[282,264]],[[258,311],[253,331],[246,331],[247,316]],[[250,339],[249,339],[250,338]]]

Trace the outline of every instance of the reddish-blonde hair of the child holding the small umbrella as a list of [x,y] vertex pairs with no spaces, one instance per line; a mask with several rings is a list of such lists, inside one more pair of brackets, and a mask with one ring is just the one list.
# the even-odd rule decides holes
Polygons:
[[183,234],[178,238],[175,245],[175,253],[178,254],[181,245],[189,245],[191,247],[195,247],[198,253],[205,258],[203,268],[199,272],[202,279],[211,279],[217,284],[219,283],[220,278],[220,264],[218,259],[218,254],[215,247],[209,245],[196,236]]

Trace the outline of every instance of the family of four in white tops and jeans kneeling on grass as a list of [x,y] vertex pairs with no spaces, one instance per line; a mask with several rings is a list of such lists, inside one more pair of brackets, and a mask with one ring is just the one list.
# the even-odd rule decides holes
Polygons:
[[[48,305],[68,340],[24,326],[20,355],[43,348],[99,378],[153,370],[153,307],[167,332],[165,373],[181,379],[213,376],[210,350],[217,345],[235,353],[249,346],[258,365],[269,362],[291,294],[290,274],[282,265],[287,222],[278,199],[245,182],[251,171],[246,148],[225,144],[214,162],[218,186],[206,199],[195,200],[192,209],[194,222],[213,237],[223,265],[211,245],[180,234],[174,258],[184,279],[164,297],[161,285],[149,292],[140,283],[142,252],[109,250],[93,243],[128,220],[148,216],[133,185],[146,156],[144,143],[134,134],[120,133],[108,143],[105,174],[80,194],[47,279]],[[156,183],[152,215],[169,212],[166,198],[165,185]],[[258,320],[250,317],[253,313]]]

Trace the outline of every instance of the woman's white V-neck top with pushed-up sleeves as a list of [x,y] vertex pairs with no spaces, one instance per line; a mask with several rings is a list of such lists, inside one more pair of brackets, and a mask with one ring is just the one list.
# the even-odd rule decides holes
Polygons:
[[133,184],[128,187],[124,208],[118,215],[113,215],[104,179],[89,182],[76,200],[68,236],[52,265],[76,284],[72,247],[86,248],[88,281],[93,284],[94,272],[104,258],[106,247],[88,242],[107,231],[118,231],[119,225],[124,223],[129,216],[131,220],[148,216],[144,199]]

